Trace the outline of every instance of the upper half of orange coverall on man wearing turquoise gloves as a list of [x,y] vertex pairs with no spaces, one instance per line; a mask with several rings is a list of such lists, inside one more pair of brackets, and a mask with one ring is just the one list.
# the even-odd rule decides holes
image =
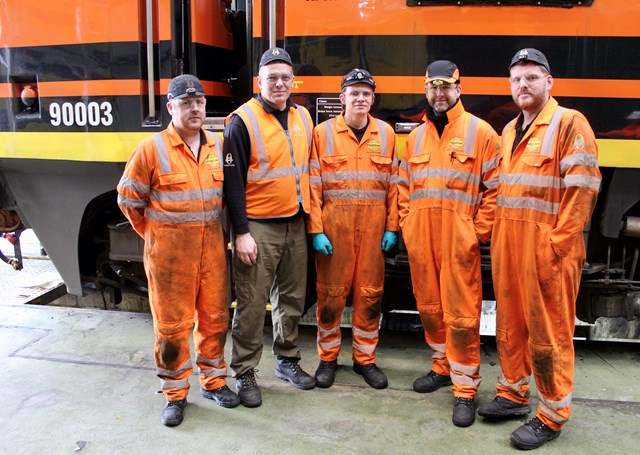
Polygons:
[[[323,205],[380,206],[386,213],[385,231],[398,231],[398,160],[393,129],[369,117],[369,127],[356,153],[355,139],[344,116],[316,127],[311,159],[311,215],[307,231],[324,232]],[[382,233],[380,233],[382,235]],[[335,239],[331,239],[335,241]]]

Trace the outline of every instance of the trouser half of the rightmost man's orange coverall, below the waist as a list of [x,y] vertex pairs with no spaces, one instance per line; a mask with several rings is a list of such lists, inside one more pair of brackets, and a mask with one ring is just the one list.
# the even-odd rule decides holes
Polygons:
[[[504,384],[502,388],[499,385],[498,393],[507,398],[522,397],[522,393],[514,393],[514,384],[524,381],[527,370],[518,372],[508,367],[505,371],[505,365],[520,360],[510,354],[519,354],[526,349],[529,356],[519,355],[530,359],[529,371],[533,371],[540,394],[538,417],[552,429],[559,430],[571,413],[575,301],[584,263],[584,242],[580,237],[569,255],[560,258],[549,242],[549,226],[500,220],[497,227],[501,241],[496,245],[499,267],[494,268],[494,273],[499,283],[496,287],[498,327],[503,340],[498,340],[498,349],[504,375]],[[531,241],[518,243],[518,238]],[[505,249],[511,245],[513,249]],[[500,273],[502,270],[508,272]],[[522,277],[523,282],[515,282],[514,277]],[[514,299],[518,294],[510,292],[516,285],[520,286],[519,301]],[[517,316],[513,311],[515,307],[521,312],[521,321],[516,324],[513,319]],[[505,314],[500,315],[500,312]],[[514,333],[517,325],[528,329],[526,343],[522,335],[518,337]],[[515,342],[523,346],[514,349]]]

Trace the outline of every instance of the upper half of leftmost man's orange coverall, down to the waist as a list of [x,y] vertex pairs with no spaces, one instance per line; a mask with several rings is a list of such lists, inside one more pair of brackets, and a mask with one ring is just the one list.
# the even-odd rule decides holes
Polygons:
[[141,237],[155,225],[221,218],[222,146],[217,136],[206,137],[198,166],[190,151],[175,153],[184,143],[173,124],[133,152],[118,183],[118,205]]

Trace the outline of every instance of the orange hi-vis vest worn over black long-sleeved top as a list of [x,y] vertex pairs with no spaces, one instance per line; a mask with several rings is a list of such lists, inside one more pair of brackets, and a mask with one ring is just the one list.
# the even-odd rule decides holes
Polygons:
[[[289,108],[288,132],[252,98],[232,115],[238,115],[251,139],[247,172],[247,218],[286,218],[300,204],[309,213],[309,151],[313,123],[302,106]],[[289,153],[283,153],[288,151]]]

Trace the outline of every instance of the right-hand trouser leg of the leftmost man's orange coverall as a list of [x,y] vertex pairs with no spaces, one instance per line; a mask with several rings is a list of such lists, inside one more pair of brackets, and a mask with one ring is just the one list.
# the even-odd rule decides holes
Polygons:
[[205,230],[204,245],[193,340],[200,387],[213,390],[227,382],[224,346],[229,327],[227,240],[219,223]]

